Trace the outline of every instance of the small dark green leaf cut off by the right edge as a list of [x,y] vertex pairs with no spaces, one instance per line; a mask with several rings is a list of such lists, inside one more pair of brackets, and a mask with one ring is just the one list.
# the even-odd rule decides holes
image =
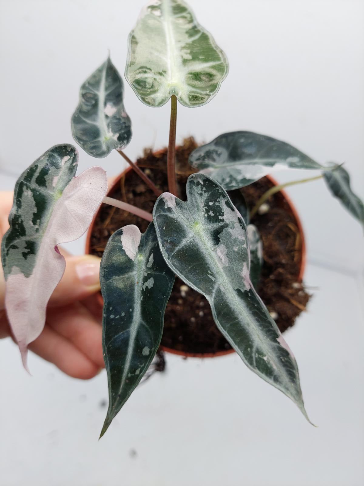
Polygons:
[[351,191],[350,176],[339,166],[323,173],[326,184],[331,193],[339,199],[341,204],[364,225],[364,204],[359,197]]

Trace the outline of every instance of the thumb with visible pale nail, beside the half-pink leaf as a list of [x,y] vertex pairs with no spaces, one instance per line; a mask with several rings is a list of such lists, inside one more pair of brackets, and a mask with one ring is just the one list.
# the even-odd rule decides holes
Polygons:
[[[64,252],[62,252],[64,254]],[[100,290],[99,257],[65,255],[66,270],[50,297],[51,306],[59,306],[83,300]]]

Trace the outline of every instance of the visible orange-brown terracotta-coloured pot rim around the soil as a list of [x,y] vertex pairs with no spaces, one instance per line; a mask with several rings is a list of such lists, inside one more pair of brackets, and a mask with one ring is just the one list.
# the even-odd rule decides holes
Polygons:
[[[130,172],[131,170],[132,170],[132,168],[131,167],[128,167],[127,169],[125,169],[124,172],[122,172],[118,177],[116,177],[114,183],[112,184],[112,186],[110,187],[110,189],[109,189],[109,191],[107,193],[108,196],[110,194],[112,194],[113,191],[116,189],[116,187],[120,184],[121,177],[123,175],[128,174],[128,172]],[[267,175],[266,177],[275,186],[278,185],[278,182],[273,177],[271,177],[270,175]],[[287,194],[284,191],[281,191],[281,194],[282,194],[283,198],[286,200],[289,208],[292,211],[292,214],[293,214],[293,216],[294,216],[294,218],[296,220],[296,225],[298,227],[299,236],[300,236],[300,239],[301,239],[301,266],[300,266],[299,274],[298,274],[298,277],[297,277],[298,281],[301,282],[302,279],[303,279],[303,274],[304,274],[305,266],[306,266],[306,245],[305,245],[305,238],[304,238],[304,234],[303,234],[303,228],[302,228],[302,225],[301,225],[301,221],[300,221],[300,219],[298,217],[298,213],[296,211],[296,208],[294,207],[292,201],[290,200],[290,198],[287,196]],[[96,214],[94,216],[94,219],[92,220],[92,223],[91,223],[91,225],[90,225],[90,227],[88,228],[88,231],[87,231],[86,248],[85,248],[85,253],[86,254],[89,254],[90,253],[90,239],[91,239],[91,234],[92,234],[92,231],[93,231],[93,227],[94,227],[95,220],[99,216],[99,212],[100,212],[100,208],[96,212]],[[100,305],[102,305],[103,304],[103,300],[102,300],[101,294],[98,294],[97,298],[99,300]],[[217,351],[216,353],[189,353],[189,352],[179,351],[177,349],[172,349],[172,348],[165,347],[165,346],[161,346],[161,349],[163,349],[163,351],[166,351],[168,353],[178,354],[180,356],[188,357],[188,358],[215,358],[216,356],[224,356],[226,354],[231,354],[231,353],[234,353],[235,352],[234,349],[227,349],[226,351]]]

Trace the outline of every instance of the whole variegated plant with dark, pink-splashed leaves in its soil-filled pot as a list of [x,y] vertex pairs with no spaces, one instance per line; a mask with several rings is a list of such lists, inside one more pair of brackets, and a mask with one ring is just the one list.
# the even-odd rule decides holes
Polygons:
[[[1,259],[6,311],[23,363],[64,272],[57,245],[81,236],[103,202],[88,237],[89,251],[103,254],[109,408],[101,435],[151,364],[165,315],[166,321],[170,316],[165,347],[187,353],[171,336],[182,335],[182,344],[190,341],[192,348],[213,336],[207,343],[210,352],[199,348],[192,354],[216,355],[232,348],[308,419],[298,366],[277,325],[284,330],[283,321],[292,325],[295,316],[282,319],[284,312],[275,308],[283,291],[296,312],[307,302],[300,282],[303,234],[282,186],[267,176],[280,169],[316,170],[314,178],[322,177],[362,224],[363,203],[341,165],[320,164],[265,135],[236,131],[202,146],[186,140],[176,151],[177,100],[191,108],[208,103],[228,73],[225,54],[182,0],[150,2],[128,47],[125,77],[139,99],[151,107],[171,100],[168,149],[146,153],[138,164],[122,152],[132,137],[131,120],[122,79],[109,57],[81,87],[72,132],[88,154],[102,158],[117,150],[131,169],[106,195],[105,172],[92,167],[75,177],[77,150],[63,144],[33,162],[15,187]],[[291,233],[279,235],[280,228]],[[270,286],[268,279],[276,284]],[[181,330],[186,320],[179,318],[182,308],[189,312],[187,339]]]

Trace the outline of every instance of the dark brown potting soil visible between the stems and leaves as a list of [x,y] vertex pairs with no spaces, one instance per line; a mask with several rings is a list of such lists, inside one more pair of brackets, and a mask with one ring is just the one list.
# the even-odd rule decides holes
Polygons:
[[[185,182],[195,172],[187,160],[197,147],[194,139],[186,139],[176,152],[177,178],[182,199],[185,200]],[[153,180],[158,188],[167,191],[166,149],[153,154],[145,150],[137,160],[139,167]],[[272,187],[264,177],[243,188],[249,208],[259,197]],[[155,195],[132,170],[117,184],[111,197],[152,212]],[[258,294],[276,320],[281,331],[293,326],[296,317],[305,310],[309,295],[298,281],[301,263],[300,235],[290,207],[280,192],[268,200],[265,214],[256,214],[252,219],[263,239],[264,265],[258,287]],[[101,256],[107,240],[117,229],[125,225],[137,225],[142,232],[148,222],[116,209],[102,205],[95,221],[90,239],[90,253]],[[189,353],[216,353],[231,346],[217,330],[209,304],[203,295],[188,288],[176,278],[171,297],[165,311],[165,326],[162,346]]]

